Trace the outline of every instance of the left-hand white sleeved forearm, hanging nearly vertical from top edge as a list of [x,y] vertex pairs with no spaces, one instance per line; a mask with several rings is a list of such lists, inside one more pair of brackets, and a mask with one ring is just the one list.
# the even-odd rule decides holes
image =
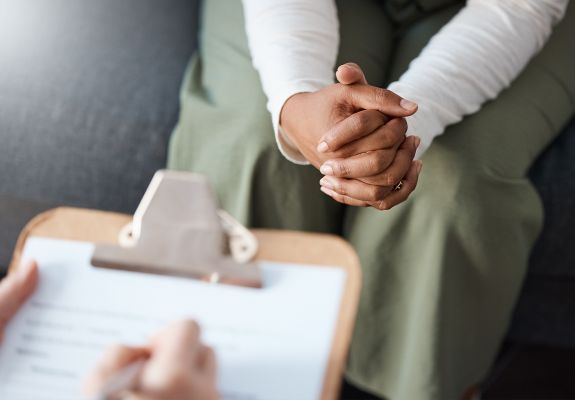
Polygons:
[[254,67],[268,97],[278,144],[290,160],[307,163],[279,133],[286,100],[333,83],[339,45],[333,0],[243,0]]

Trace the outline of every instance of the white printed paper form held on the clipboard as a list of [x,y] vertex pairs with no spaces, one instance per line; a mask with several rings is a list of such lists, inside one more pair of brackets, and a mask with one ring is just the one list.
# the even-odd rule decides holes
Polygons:
[[264,289],[90,266],[93,245],[29,239],[39,286],[0,346],[0,399],[78,400],[114,343],[142,344],[193,318],[218,358],[226,400],[317,399],[331,350],[345,271],[260,263]]

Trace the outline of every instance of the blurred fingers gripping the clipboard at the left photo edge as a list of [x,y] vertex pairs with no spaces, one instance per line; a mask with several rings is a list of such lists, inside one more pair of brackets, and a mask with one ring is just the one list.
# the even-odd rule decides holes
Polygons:
[[38,284],[38,266],[30,262],[0,282],[0,342],[10,319],[30,297]]

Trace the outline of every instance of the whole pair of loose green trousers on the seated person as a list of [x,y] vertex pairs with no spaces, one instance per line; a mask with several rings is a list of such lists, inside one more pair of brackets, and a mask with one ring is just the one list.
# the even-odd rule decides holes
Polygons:
[[[382,2],[338,7],[339,61],[385,86],[461,4],[399,25]],[[575,6],[511,87],[434,141],[417,190],[387,212],[335,203],[318,171],[280,155],[241,2],[206,1],[201,25],[169,166],[207,175],[223,208],[249,226],[353,244],[363,290],[352,383],[392,400],[460,398],[496,356],[542,226],[526,172],[575,109]]]

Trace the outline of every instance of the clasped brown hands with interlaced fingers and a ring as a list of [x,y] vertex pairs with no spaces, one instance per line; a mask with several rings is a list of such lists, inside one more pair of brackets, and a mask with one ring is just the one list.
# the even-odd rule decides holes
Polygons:
[[417,104],[368,85],[356,64],[340,66],[336,77],[339,83],[290,97],[282,130],[324,175],[322,192],[343,204],[388,210],[409,197],[421,172],[414,161],[420,139],[406,137],[405,121]]

